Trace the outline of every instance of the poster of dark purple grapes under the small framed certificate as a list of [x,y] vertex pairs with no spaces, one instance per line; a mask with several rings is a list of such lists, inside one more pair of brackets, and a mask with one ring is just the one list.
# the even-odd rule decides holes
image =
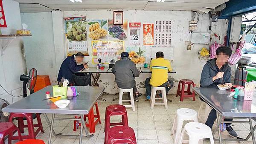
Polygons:
[[126,40],[127,39],[127,24],[124,20],[123,25],[114,25],[114,20],[108,20],[108,38],[109,40]]

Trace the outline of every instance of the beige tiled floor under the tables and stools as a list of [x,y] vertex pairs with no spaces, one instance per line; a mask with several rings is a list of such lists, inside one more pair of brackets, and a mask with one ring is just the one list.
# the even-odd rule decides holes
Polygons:
[[[117,95],[103,95],[107,101],[99,100],[99,111],[102,124],[96,125],[96,132],[93,133],[92,138],[83,138],[82,144],[103,144],[104,143],[104,119],[105,119],[105,107],[111,104],[118,104],[118,101],[112,101]],[[125,98],[125,96],[124,96]],[[154,109],[150,108],[149,102],[145,102],[145,95],[140,96],[139,102],[135,102],[135,112],[131,108],[127,108],[129,126],[134,129],[137,144],[173,144],[173,136],[171,136],[172,124],[175,118],[176,110],[179,108],[190,108],[198,111],[201,101],[196,98],[196,101],[192,101],[192,98],[185,98],[183,102],[179,101],[179,97],[175,95],[168,95],[172,102],[168,101],[168,109],[164,106],[154,106]],[[50,115],[48,116],[50,118]],[[40,133],[37,139],[42,139],[45,143],[48,143],[49,127],[43,115],[41,115],[43,127],[45,133]],[[111,122],[119,122],[121,117],[114,116],[111,118]],[[187,122],[187,121],[186,121]],[[202,122],[199,119],[199,122]],[[56,133],[79,135],[80,130],[73,131],[73,121],[56,120],[54,122],[54,130]],[[255,123],[254,123],[255,124]],[[249,133],[249,124],[233,124],[234,130],[242,138],[245,138]],[[89,130],[88,130],[89,131]],[[25,131],[27,133],[27,130]],[[83,132],[84,134],[85,132]],[[255,132],[256,134],[256,132]],[[215,137],[218,138],[216,132]],[[232,139],[227,132],[222,132],[222,138]],[[7,143],[7,140],[6,140]],[[15,144],[15,141],[12,142]],[[215,143],[219,142],[215,140]],[[223,142],[223,144],[252,144],[252,138],[246,142],[229,141]],[[79,144],[79,136],[77,137],[61,137],[52,136],[52,144]],[[209,141],[204,141],[204,144],[209,144]]]

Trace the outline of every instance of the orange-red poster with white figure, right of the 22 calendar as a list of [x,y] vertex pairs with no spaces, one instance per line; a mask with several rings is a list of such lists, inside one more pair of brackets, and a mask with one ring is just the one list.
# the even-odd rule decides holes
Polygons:
[[154,45],[154,24],[143,24],[143,45]]

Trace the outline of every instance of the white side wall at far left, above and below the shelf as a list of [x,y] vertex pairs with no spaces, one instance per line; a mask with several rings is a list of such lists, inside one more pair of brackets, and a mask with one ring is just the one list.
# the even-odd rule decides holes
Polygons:
[[[3,0],[3,9],[6,17],[7,28],[0,28],[3,35],[15,34],[17,29],[21,29],[19,3],[13,0]],[[1,46],[6,40],[0,41]],[[22,95],[22,82],[20,75],[26,73],[26,61],[23,55],[23,38],[17,37],[0,55],[0,84],[12,95]],[[0,88],[0,98],[4,98],[10,103],[22,97],[14,98]]]

